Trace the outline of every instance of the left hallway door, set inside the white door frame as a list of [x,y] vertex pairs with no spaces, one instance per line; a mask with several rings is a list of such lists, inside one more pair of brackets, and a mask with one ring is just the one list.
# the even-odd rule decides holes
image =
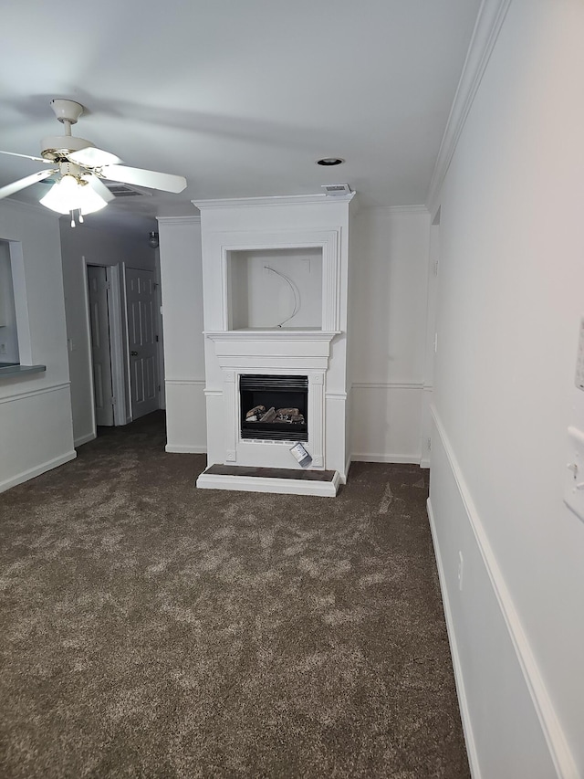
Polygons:
[[106,268],[88,265],[89,328],[95,417],[98,425],[113,425],[113,392],[111,389],[109,285]]

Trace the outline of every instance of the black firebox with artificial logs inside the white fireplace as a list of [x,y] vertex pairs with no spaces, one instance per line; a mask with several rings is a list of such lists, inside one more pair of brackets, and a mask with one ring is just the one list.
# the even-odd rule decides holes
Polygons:
[[241,437],[308,441],[308,376],[239,377]]

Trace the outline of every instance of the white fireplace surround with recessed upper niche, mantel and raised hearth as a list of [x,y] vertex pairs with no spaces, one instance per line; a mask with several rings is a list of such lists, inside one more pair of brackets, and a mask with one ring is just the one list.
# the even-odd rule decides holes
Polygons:
[[[194,204],[208,464],[199,487],[333,496],[346,478],[352,196]],[[297,444],[312,459],[309,471],[291,451]]]

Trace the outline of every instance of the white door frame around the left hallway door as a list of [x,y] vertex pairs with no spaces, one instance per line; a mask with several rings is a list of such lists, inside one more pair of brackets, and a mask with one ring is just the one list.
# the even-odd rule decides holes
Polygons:
[[89,356],[89,393],[91,396],[91,426],[93,436],[97,435],[97,423],[95,416],[95,389],[93,377],[93,364],[91,360],[91,322],[89,320],[89,287],[88,266],[96,265],[106,268],[106,280],[110,283],[110,295],[108,295],[108,319],[110,321],[110,362],[111,362],[111,387],[115,398],[113,405],[114,426],[125,425],[130,421],[126,414],[126,381],[124,371],[124,335],[122,322],[122,295],[120,286],[119,265],[108,265],[94,259],[83,256],[83,278],[85,289],[85,321]]

